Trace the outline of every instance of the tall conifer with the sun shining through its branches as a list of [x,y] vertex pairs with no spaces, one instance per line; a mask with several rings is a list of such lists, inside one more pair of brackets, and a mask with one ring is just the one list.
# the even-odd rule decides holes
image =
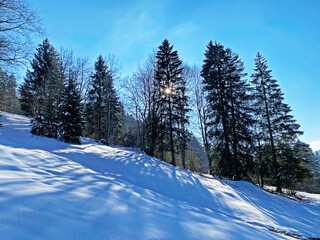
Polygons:
[[[162,123],[160,148],[162,152],[165,147],[171,152],[170,163],[173,166],[176,165],[174,139],[178,136],[178,124],[185,124],[186,121],[185,116],[179,115],[178,110],[179,108],[181,109],[181,104],[184,104],[183,102],[186,100],[181,95],[184,91],[183,89],[185,89],[182,83],[183,68],[181,64],[178,52],[173,51],[173,46],[170,46],[169,41],[165,39],[158,47],[156,54],[155,80]],[[183,102],[180,103],[179,100]]]

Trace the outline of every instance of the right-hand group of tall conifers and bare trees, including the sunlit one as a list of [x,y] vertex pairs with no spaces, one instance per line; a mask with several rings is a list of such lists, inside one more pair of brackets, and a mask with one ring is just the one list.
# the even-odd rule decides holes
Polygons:
[[[209,42],[202,68],[183,65],[167,40],[126,82],[139,146],[185,167],[189,121],[197,113],[209,174],[294,188],[311,176],[312,151],[258,53],[246,78],[231,49]],[[191,111],[192,110],[192,111]]]

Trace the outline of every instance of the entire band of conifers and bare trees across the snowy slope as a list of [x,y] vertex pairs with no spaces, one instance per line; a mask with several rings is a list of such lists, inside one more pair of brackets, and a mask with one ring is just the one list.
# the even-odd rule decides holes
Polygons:
[[[139,148],[173,166],[278,192],[320,191],[319,154],[299,140],[300,125],[261,53],[247,73],[240,56],[213,39],[203,62],[190,66],[164,39],[122,77],[115,55],[91,63],[48,38],[34,48],[38,19],[13,3],[0,1],[1,111],[30,117],[33,135]],[[11,67],[22,64],[18,85]]]

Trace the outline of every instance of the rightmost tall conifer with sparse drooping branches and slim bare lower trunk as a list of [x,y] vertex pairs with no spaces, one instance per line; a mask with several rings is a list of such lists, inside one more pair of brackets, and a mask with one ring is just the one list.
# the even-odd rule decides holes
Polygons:
[[[259,116],[257,135],[262,144],[269,146],[270,163],[272,165],[274,184],[277,191],[281,192],[282,176],[284,175],[283,166],[280,158],[283,157],[281,146],[292,146],[297,136],[302,134],[299,125],[290,114],[290,107],[283,103],[283,93],[277,80],[271,76],[267,61],[257,54],[255,59],[254,73],[251,75],[254,88],[255,115]],[[287,148],[286,148],[287,149]]]

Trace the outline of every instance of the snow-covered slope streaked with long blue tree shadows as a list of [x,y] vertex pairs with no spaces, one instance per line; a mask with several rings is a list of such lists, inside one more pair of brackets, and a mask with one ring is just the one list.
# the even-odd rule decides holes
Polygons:
[[2,115],[0,239],[320,238],[319,195],[301,203],[142,153],[31,136],[28,118]]

